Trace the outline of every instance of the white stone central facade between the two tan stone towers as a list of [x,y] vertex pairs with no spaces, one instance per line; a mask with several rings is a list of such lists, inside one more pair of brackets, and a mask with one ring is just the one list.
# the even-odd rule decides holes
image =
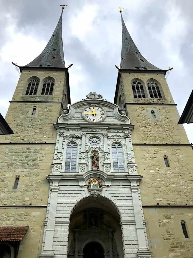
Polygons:
[[[97,104],[105,109],[106,117],[100,124],[89,124],[83,119],[82,110],[89,104]],[[104,257],[151,257],[139,191],[139,181],[142,176],[137,173],[131,141],[131,131],[134,126],[130,124],[129,118],[120,115],[115,104],[102,99],[87,99],[73,104],[67,115],[59,117],[55,127],[57,141],[52,172],[47,176],[50,192],[40,257],[83,257],[83,247],[89,241],[101,243]],[[91,136],[100,138],[99,146],[89,145]],[[66,146],[70,142],[74,142],[77,146],[76,169],[65,172]],[[111,147],[115,142],[122,146],[124,171],[113,171]],[[98,169],[92,168],[90,156],[93,149],[99,154]],[[100,191],[95,190],[96,196],[87,188],[89,179],[93,177],[102,179],[102,188]],[[119,229],[114,230],[115,233],[112,233],[116,249],[114,253],[111,250],[114,242],[109,241],[105,245],[97,233],[99,230],[96,229],[97,232],[94,233],[93,228],[88,231],[90,235],[85,238],[82,247],[80,243],[77,244],[78,238],[72,247],[75,235],[69,237],[69,234],[76,233],[69,233],[71,215],[80,209],[83,203],[89,204],[89,202],[93,208],[95,202],[100,203],[101,209],[105,205],[118,216],[120,237],[117,233]],[[80,234],[81,229],[78,230]],[[71,249],[73,254],[70,253]]]

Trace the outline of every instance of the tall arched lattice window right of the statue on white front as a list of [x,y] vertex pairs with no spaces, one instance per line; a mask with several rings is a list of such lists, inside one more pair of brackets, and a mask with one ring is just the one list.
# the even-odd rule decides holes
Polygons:
[[112,145],[113,171],[125,171],[122,146],[115,142]]

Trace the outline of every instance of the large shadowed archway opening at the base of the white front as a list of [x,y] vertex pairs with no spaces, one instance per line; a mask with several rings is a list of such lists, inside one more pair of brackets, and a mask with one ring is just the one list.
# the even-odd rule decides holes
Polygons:
[[70,221],[68,258],[123,258],[120,217],[108,199],[82,199]]

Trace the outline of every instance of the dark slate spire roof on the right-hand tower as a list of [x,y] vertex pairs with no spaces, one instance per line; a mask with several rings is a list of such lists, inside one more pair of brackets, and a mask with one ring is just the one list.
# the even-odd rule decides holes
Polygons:
[[[120,11],[121,13],[121,11]],[[133,39],[128,33],[121,13],[122,23],[122,49],[120,69],[131,70],[161,70],[149,63],[137,49]],[[136,68],[137,67],[137,68]]]

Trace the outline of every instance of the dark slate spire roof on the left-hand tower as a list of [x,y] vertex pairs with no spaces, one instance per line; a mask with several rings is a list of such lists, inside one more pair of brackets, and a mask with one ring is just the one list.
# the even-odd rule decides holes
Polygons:
[[45,49],[36,59],[26,65],[27,67],[65,67],[62,43],[62,13]]

